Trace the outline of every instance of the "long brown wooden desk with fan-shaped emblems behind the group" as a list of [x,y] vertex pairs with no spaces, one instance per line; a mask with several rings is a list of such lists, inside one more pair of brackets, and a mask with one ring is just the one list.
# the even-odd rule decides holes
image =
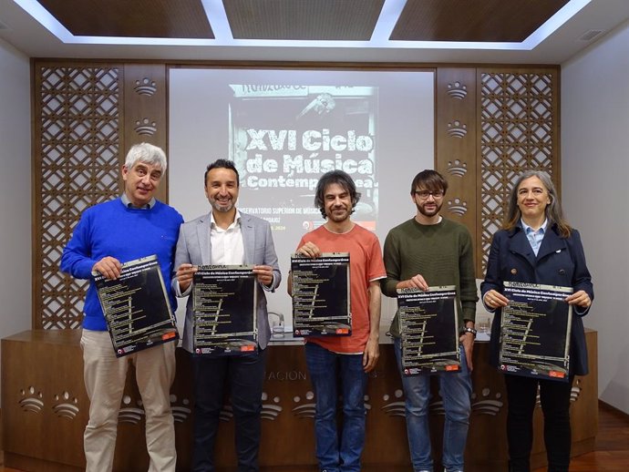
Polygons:
[[[593,450],[598,430],[597,337],[586,333],[590,375],[577,377],[572,389],[572,455]],[[27,331],[2,340],[2,417],[5,466],[28,471],[85,470],[83,430],[88,422],[88,397],[83,385],[80,331]],[[263,436],[260,465],[315,465],[314,395],[302,345],[269,346],[263,390]],[[171,389],[175,416],[177,469],[190,469],[191,363],[177,350],[177,376]],[[506,395],[502,375],[487,364],[489,345],[474,348],[474,393],[466,470],[506,470]],[[149,457],[144,418],[133,369],[130,369],[120,409],[114,469],[145,471]],[[433,385],[434,387],[435,385]],[[436,388],[431,400],[432,444],[440,456],[443,408]],[[392,344],[381,345],[376,371],[366,395],[366,446],[363,463],[382,470],[408,467],[404,395]],[[216,445],[217,464],[235,466],[233,420],[226,408]],[[541,411],[535,413],[532,467],[545,465]]]

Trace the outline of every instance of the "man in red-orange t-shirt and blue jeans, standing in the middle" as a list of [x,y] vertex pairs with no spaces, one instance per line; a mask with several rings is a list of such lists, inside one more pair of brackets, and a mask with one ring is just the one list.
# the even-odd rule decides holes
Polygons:
[[[365,445],[366,374],[379,356],[380,285],[387,276],[376,235],[350,220],[360,193],[342,170],[325,173],[319,180],[314,204],[325,224],[304,235],[297,253],[319,257],[324,252],[349,252],[350,336],[310,337],[305,358],[313,383],[316,412],[314,433],[319,468],[325,472],[359,472]],[[289,278],[289,293],[292,293]],[[340,373],[343,427],[337,435],[336,404]]]

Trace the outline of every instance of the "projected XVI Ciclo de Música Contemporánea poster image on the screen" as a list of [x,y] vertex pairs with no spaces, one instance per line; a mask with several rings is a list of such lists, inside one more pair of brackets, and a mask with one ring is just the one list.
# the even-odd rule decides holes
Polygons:
[[376,229],[377,87],[230,87],[229,154],[241,173],[243,212],[273,231],[313,230],[325,222],[313,206],[317,181],[342,169],[362,194],[354,221]]

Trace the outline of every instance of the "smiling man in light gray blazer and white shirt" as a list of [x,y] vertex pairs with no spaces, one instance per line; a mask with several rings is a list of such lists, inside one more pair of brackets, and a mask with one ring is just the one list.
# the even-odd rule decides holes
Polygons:
[[[223,406],[223,389],[229,385],[235,420],[238,472],[258,470],[260,413],[266,345],[271,336],[264,292],[274,292],[282,280],[267,221],[236,210],[240,180],[231,160],[212,162],[204,176],[211,212],[181,225],[175,252],[177,296],[192,290],[199,265],[253,265],[263,288],[258,298],[258,351],[251,354],[208,356],[191,354],[194,373],[193,472],[213,472],[214,439]],[[192,353],[192,297],[186,307],[183,348]]]

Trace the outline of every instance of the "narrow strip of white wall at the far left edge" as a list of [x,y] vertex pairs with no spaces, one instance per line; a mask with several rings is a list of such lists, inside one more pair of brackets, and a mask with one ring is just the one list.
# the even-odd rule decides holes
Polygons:
[[28,57],[0,39],[0,337],[31,327]]

